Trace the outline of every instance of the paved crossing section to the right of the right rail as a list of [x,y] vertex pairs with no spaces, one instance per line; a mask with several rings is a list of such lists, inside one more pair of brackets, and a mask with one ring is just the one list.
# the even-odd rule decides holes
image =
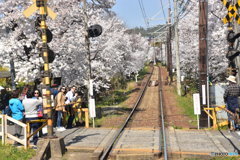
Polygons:
[[240,149],[240,138],[227,130],[182,130],[167,129],[169,157],[209,158],[221,154],[236,155]]

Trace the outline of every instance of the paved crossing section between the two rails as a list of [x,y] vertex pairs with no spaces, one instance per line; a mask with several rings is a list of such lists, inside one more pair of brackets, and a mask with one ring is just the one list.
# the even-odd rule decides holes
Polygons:
[[113,159],[156,159],[160,154],[160,130],[155,128],[124,130],[110,153]]

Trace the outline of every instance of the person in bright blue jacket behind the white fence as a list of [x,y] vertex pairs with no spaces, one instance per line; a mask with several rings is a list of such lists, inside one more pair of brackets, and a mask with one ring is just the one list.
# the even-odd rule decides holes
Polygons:
[[[23,116],[24,108],[23,108],[22,102],[18,99],[18,96],[19,96],[18,91],[14,91],[12,93],[12,97],[9,100],[9,107],[12,111],[12,118],[22,122],[24,117]],[[15,127],[15,136],[19,138],[21,136],[22,127],[17,124],[14,124],[14,127]]]

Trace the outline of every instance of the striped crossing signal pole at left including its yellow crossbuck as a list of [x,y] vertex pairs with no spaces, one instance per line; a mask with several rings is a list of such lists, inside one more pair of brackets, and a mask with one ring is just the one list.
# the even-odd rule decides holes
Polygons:
[[56,14],[47,7],[47,0],[33,0],[34,4],[26,9],[23,14],[26,17],[31,16],[35,11],[39,10],[39,20],[40,20],[40,31],[42,39],[42,58],[44,61],[44,73],[43,73],[43,84],[42,89],[43,95],[43,113],[47,115],[47,130],[48,137],[53,137],[53,117],[52,117],[52,107],[51,107],[51,92],[50,92],[50,71],[49,71],[49,48],[47,43],[47,25],[46,17],[49,15],[52,19],[56,18]]

